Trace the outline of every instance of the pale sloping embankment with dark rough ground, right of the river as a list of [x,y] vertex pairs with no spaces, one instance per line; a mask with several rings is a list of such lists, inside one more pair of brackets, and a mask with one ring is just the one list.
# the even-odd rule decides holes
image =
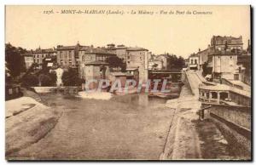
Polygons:
[[201,102],[183,86],[177,100],[168,100],[166,106],[175,111],[166,145],[160,160],[249,160],[250,155],[238,152],[238,145],[230,134],[211,118],[199,119]]

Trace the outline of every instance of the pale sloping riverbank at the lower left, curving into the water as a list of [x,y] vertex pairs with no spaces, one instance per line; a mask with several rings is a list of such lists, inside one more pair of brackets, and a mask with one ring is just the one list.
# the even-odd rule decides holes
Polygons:
[[43,139],[61,117],[60,111],[31,97],[5,101],[5,111],[5,151],[8,160],[15,157],[17,151]]

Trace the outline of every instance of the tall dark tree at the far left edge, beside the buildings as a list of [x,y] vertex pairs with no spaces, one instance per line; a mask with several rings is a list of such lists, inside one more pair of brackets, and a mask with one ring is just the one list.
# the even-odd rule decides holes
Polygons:
[[20,72],[26,71],[25,60],[21,56],[24,53],[24,48],[15,48],[10,43],[5,44],[5,61],[12,77],[18,77]]

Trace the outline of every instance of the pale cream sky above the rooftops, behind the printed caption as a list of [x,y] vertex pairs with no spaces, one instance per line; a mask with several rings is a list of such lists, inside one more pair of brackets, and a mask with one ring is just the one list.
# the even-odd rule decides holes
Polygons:
[[[65,9],[110,10],[118,14],[61,14]],[[138,14],[138,10],[154,14]],[[160,14],[161,10],[167,14]],[[207,14],[193,14],[195,11]],[[114,43],[147,48],[153,54],[171,53],[187,58],[198,48],[207,48],[213,35],[242,36],[243,47],[247,48],[251,35],[250,7],[8,5],[5,9],[5,43],[26,49],[78,42],[96,47]]]

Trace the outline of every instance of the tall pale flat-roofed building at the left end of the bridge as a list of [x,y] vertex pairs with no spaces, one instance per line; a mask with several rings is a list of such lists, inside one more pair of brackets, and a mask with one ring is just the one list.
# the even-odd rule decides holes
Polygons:
[[148,49],[127,48],[126,69],[138,69],[139,80],[148,81]]

